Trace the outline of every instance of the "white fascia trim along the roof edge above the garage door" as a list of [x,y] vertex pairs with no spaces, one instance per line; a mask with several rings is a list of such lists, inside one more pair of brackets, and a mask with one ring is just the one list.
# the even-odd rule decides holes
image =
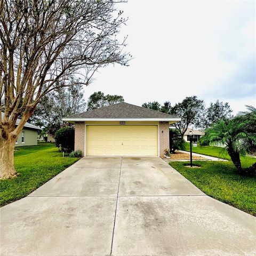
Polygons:
[[179,117],[173,118],[63,118],[62,121],[85,122],[85,121],[181,121]]

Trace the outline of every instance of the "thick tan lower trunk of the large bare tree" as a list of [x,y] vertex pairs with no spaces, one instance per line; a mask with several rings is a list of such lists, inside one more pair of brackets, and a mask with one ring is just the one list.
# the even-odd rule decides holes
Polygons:
[[0,137],[0,179],[10,179],[17,176],[14,169],[15,139],[8,136]]

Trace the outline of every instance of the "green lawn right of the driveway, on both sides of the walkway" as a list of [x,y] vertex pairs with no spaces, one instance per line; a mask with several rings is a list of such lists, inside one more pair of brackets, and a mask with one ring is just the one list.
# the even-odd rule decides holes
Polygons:
[[[211,146],[193,148],[195,153],[215,157],[220,156],[221,150]],[[227,155],[225,158],[230,160]],[[249,167],[255,162],[255,158],[241,157],[243,167]],[[238,175],[231,161],[194,161],[193,163],[200,165],[201,168],[190,168],[186,166],[188,162],[171,162],[170,165],[206,195],[256,216],[255,175],[254,177]]]

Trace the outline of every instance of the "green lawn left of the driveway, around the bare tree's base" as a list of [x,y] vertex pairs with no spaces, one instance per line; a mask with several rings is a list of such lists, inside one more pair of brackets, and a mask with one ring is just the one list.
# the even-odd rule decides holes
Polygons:
[[75,163],[78,158],[62,157],[53,143],[39,142],[14,151],[15,179],[0,181],[0,205],[6,205],[42,186],[46,181]]

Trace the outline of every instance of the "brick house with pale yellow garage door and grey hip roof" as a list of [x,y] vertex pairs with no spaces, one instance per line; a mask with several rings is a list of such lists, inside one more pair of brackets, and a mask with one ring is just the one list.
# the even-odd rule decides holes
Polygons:
[[121,102],[63,121],[75,124],[75,150],[84,156],[163,156],[169,124],[180,118]]

